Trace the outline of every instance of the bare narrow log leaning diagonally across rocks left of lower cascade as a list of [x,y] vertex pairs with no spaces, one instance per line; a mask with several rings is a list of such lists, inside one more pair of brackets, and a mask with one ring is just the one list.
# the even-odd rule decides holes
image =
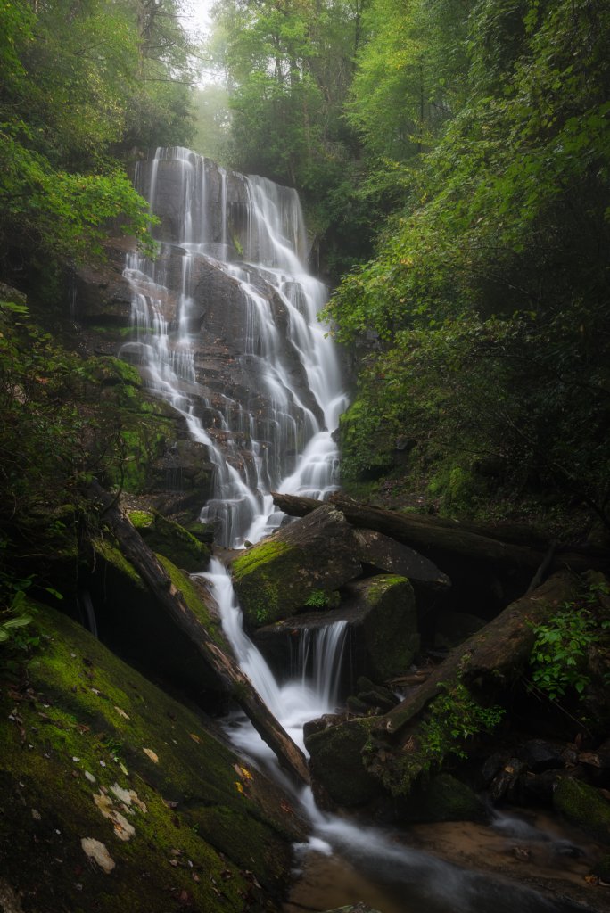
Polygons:
[[259,697],[256,688],[228,656],[214,643],[205,626],[196,618],[174,586],[163,565],[117,506],[115,499],[100,486],[91,488],[91,498],[101,507],[104,524],[119,542],[121,551],[140,573],[157,602],[197,648],[200,656],[221,684],[244,710],[260,737],[277,756],[280,765],[300,782],[310,782],[305,756],[290,739],[278,720]]

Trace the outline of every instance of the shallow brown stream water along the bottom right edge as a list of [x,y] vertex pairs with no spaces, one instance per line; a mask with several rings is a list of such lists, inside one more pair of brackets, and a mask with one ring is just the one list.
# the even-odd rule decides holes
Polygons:
[[385,855],[375,838],[367,852],[368,829],[355,847],[347,834],[342,843],[331,828],[316,830],[319,836],[299,850],[283,913],[321,913],[358,902],[380,913],[610,910],[610,890],[584,881],[594,846],[544,816],[501,814],[491,826],[415,825],[408,835],[394,836],[394,846],[384,834]]

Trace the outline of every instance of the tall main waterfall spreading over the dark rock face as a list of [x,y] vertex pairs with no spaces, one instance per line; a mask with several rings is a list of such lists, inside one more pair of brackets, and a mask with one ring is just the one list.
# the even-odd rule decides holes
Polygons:
[[154,261],[127,257],[133,329],[122,354],[208,448],[201,519],[239,547],[279,525],[271,490],[325,498],[338,488],[332,432],[346,397],[317,320],[326,289],[304,266],[296,191],[182,147],[138,163],[135,184],[160,219],[160,249]]

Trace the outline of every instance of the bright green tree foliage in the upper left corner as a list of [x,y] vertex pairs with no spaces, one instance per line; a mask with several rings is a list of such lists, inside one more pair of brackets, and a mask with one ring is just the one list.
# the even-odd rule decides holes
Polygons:
[[113,156],[189,136],[174,0],[0,12],[0,271],[101,257],[110,225],[150,253],[148,206]]

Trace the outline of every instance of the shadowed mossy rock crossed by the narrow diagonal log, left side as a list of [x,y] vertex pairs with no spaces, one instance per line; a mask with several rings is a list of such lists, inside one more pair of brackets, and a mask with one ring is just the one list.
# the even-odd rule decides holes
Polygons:
[[[163,687],[187,694],[212,712],[225,708],[228,695],[217,678],[110,535],[95,540],[95,549],[94,570],[82,575],[81,585],[89,590],[100,640]],[[208,634],[224,652],[230,653],[214,603],[207,603],[203,589],[196,587],[172,561],[164,555],[157,557]]]

